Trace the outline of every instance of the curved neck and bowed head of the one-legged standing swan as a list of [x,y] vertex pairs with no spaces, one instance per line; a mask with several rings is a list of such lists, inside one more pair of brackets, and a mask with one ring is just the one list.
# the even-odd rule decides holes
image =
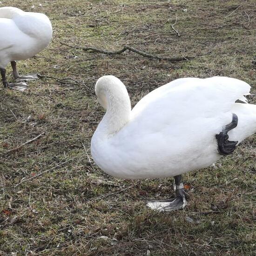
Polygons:
[[131,102],[127,89],[118,78],[107,75],[97,81],[95,93],[101,106],[107,109],[96,132],[104,137],[115,135],[130,120]]

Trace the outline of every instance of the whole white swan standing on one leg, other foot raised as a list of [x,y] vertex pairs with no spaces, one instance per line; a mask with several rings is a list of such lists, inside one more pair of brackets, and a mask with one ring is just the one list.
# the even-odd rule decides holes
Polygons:
[[[150,201],[156,210],[187,204],[181,174],[208,167],[256,132],[249,84],[234,78],[181,78],[150,92],[131,110],[124,84],[101,77],[95,93],[107,109],[91,140],[94,162],[124,179],[174,176],[175,199]],[[230,141],[229,141],[230,140]]]

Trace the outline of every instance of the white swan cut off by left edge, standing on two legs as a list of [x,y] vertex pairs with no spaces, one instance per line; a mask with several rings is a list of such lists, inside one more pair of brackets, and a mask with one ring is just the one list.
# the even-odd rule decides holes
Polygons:
[[[0,7],[0,73],[4,87],[9,86],[5,67],[11,62],[16,82],[34,80],[36,75],[20,76],[16,61],[26,60],[38,54],[52,39],[52,25],[43,13],[23,12],[15,7]],[[22,83],[23,81],[23,83]]]

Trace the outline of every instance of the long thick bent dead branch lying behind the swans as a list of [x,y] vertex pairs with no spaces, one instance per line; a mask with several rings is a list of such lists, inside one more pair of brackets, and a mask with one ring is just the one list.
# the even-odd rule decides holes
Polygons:
[[84,51],[91,51],[93,53],[102,53],[102,54],[108,54],[108,55],[116,55],[116,54],[121,54],[123,52],[125,52],[126,50],[129,50],[131,52],[134,52],[136,54],[139,54],[143,57],[149,58],[149,59],[153,59],[153,60],[163,60],[163,61],[171,61],[171,62],[176,62],[176,61],[188,61],[191,59],[194,59],[194,57],[189,57],[189,56],[184,56],[184,57],[176,57],[176,58],[169,58],[169,57],[161,57],[161,56],[156,56],[156,55],[152,55],[152,54],[147,54],[144,52],[141,52],[140,50],[134,48],[134,47],[130,47],[128,45],[125,45],[121,50],[118,51],[107,51],[104,49],[98,49],[95,47],[81,47],[81,46],[73,46],[73,45],[68,45],[65,43],[62,43],[62,45],[74,48],[74,49],[82,49]]

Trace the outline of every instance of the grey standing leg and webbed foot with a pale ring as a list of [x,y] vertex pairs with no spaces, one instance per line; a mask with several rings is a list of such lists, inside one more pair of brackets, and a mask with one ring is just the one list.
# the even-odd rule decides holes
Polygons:
[[182,175],[174,176],[175,180],[175,195],[176,197],[168,200],[149,201],[147,206],[157,211],[173,211],[178,209],[184,209],[188,204],[186,200],[186,193],[182,183]]

